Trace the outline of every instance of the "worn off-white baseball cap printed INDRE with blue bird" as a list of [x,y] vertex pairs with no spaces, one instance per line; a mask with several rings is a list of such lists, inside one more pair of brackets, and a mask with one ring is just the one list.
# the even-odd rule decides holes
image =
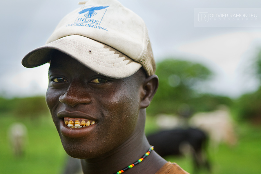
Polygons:
[[91,70],[111,78],[125,78],[143,67],[155,73],[148,30],[144,21],[116,0],[89,0],[67,14],[46,45],[22,60],[27,68],[50,62],[59,50]]

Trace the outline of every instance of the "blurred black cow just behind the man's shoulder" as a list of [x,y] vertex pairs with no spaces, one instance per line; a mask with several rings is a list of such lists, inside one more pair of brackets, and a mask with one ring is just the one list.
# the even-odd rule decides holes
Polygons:
[[162,157],[182,155],[184,145],[189,145],[193,155],[194,172],[197,173],[203,168],[210,171],[210,165],[206,157],[208,137],[200,129],[177,128],[165,130],[149,135],[147,139],[148,142],[155,147],[155,151]]

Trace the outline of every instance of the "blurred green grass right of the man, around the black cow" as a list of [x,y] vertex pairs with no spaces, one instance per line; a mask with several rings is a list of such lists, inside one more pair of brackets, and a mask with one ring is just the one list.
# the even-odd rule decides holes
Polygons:
[[[147,118],[146,133],[155,130],[155,118]],[[212,166],[212,174],[260,174],[261,173],[261,127],[253,127],[247,123],[238,124],[238,144],[229,147],[220,144],[214,152],[208,149]],[[156,149],[155,149],[156,151]],[[184,170],[193,173],[190,156],[168,157],[166,160],[176,162]],[[201,171],[206,174],[206,171]]]

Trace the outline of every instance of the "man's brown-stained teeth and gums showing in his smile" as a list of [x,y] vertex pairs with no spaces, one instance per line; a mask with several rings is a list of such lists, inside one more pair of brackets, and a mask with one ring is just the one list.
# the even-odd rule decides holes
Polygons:
[[84,118],[64,117],[64,123],[70,128],[82,128],[95,124],[95,121]]

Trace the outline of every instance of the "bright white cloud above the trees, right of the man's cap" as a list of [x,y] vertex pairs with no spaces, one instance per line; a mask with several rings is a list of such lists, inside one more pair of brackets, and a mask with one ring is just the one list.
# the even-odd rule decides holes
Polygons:
[[[258,84],[255,79],[239,77],[244,76],[242,68],[247,68],[242,64],[245,61],[246,52],[253,49],[250,48],[251,43],[260,38],[261,32],[234,32],[184,44],[178,49],[184,53],[197,55],[203,61],[205,59],[207,62],[212,62],[209,66],[217,76],[212,81],[211,90],[238,96],[246,92],[245,90],[255,89]],[[245,83],[248,84],[248,89],[242,86]]]

